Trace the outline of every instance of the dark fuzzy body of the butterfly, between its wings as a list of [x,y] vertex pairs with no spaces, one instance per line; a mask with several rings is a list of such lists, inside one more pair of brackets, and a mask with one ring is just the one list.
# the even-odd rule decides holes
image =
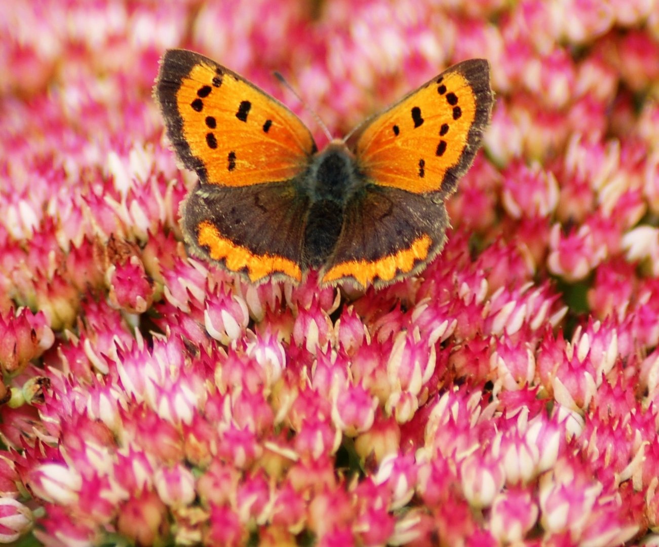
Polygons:
[[333,141],[316,154],[304,177],[310,208],[304,230],[304,260],[312,268],[326,262],[341,236],[345,206],[365,179],[356,169],[355,158],[342,141]]

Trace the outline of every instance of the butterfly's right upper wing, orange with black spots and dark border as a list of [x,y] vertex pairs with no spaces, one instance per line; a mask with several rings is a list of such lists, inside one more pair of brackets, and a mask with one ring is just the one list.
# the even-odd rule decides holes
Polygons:
[[366,177],[414,193],[454,190],[490,119],[489,74],[485,59],[463,61],[368,122],[355,145]]

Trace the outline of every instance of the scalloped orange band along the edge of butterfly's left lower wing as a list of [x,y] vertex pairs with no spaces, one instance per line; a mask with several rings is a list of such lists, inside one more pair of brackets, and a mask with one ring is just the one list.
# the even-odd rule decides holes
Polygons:
[[293,277],[296,281],[302,279],[300,266],[293,260],[270,254],[252,254],[248,248],[235,245],[229,239],[222,237],[210,222],[204,221],[199,224],[197,242],[199,245],[208,247],[210,258],[223,260],[227,270],[231,270],[231,272],[246,270],[252,283],[262,281],[277,273]]

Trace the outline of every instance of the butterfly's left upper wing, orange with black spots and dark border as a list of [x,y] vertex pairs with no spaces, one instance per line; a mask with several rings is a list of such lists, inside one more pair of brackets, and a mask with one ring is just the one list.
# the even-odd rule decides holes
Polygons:
[[167,51],[154,95],[179,158],[202,183],[285,181],[304,171],[316,151],[287,107],[198,53]]

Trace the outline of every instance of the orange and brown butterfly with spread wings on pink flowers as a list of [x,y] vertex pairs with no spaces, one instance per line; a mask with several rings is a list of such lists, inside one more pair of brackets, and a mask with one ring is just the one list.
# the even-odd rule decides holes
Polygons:
[[463,61],[318,150],[302,121],[239,74],[184,49],[161,59],[154,97],[199,180],[181,205],[192,254],[243,275],[379,288],[442,250],[445,199],[492,109],[490,65]]

